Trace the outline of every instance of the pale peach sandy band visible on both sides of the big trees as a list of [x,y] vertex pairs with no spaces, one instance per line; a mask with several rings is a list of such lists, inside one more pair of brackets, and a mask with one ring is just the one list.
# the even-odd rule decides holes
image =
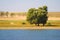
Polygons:
[[[26,20],[26,16],[0,17],[0,20]],[[48,20],[60,20],[60,17],[48,17]]]

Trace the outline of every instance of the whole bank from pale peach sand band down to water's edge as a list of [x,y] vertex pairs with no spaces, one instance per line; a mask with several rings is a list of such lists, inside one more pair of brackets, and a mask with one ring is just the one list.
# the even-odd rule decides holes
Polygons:
[[27,23],[26,16],[0,17],[0,30],[1,29],[60,29],[60,17],[48,17],[47,26],[42,27]]

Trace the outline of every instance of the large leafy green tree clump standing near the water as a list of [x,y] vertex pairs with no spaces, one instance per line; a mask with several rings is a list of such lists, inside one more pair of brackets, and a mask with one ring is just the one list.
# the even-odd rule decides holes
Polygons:
[[38,9],[30,8],[27,14],[27,21],[31,24],[38,25],[47,22],[47,6],[39,7]]

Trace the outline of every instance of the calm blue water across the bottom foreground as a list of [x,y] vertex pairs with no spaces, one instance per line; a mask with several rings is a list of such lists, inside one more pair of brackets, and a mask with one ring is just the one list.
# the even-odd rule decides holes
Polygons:
[[60,40],[60,30],[0,30],[0,40]]

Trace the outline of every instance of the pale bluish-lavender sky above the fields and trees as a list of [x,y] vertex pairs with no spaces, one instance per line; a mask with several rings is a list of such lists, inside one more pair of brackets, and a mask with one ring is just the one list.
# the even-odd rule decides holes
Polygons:
[[49,12],[60,12],[60,0],[0,0],[0,11],[27,12],[43,5],[48,6]]

